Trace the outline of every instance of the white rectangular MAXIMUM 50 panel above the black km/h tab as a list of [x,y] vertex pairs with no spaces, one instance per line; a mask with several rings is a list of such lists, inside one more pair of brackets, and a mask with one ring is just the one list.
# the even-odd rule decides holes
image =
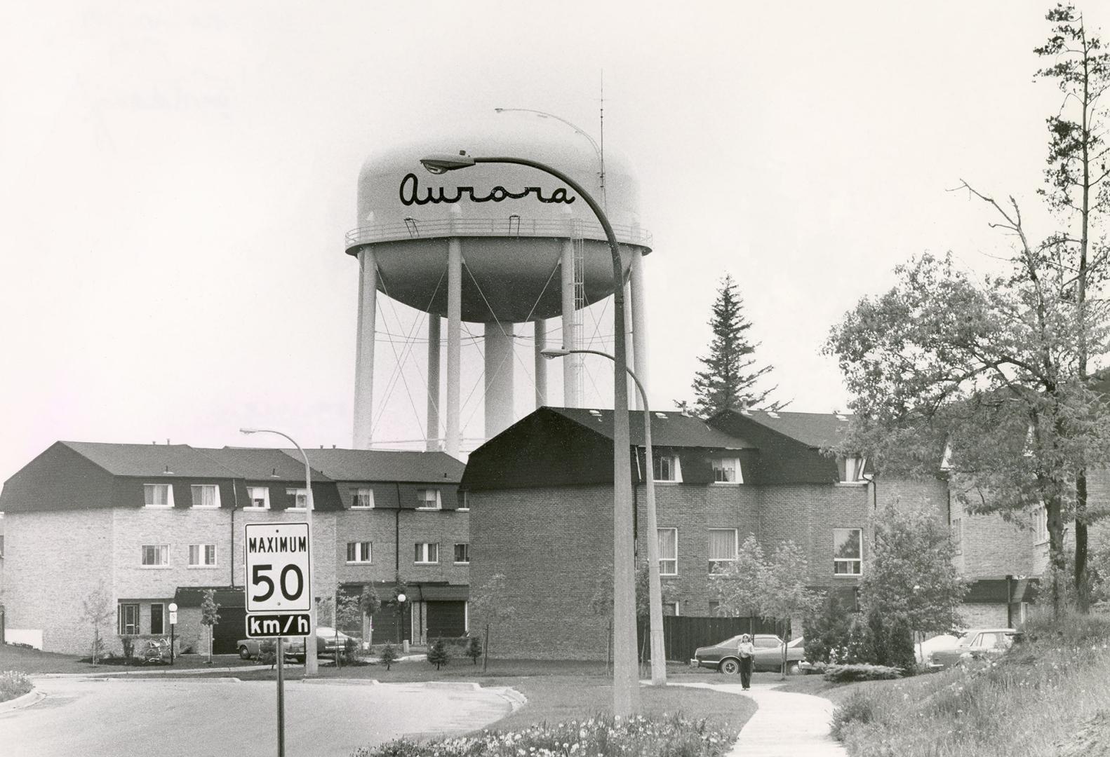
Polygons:
[[248,523],[246,612],[295,613],[312,610],[312,566],[307,523]]

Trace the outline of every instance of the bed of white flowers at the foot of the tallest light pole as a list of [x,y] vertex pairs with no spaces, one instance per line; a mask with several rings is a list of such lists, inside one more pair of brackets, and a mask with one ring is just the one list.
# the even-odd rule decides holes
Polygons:
[[526,730],[483,732],[478,736],[437,741],[397,739],[352,757],[718,757],[731,748],[737,733],[713,730],[705,720],[673,715],[660,720],[596,716],[587,720],[541,724]]

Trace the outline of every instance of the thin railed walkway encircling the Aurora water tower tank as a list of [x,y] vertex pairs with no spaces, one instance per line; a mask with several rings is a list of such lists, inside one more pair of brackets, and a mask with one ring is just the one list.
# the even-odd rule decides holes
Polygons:
[[[614,225],[617,239],[632,245],[652,246],[652,235],[639,227]],[[575,233],[579,238],[605,239],[601,224],[575,221]],[[405,218],[402,223],[360,226],[346,233],[346,248],[360,245],[396,242],[413,238],[442,238],[452,236],[498,236],[498,237],[555,237],[564,238],[565,221],[539,221],[513,215],[506,218],[443,218],[437,221],[415,221]]]

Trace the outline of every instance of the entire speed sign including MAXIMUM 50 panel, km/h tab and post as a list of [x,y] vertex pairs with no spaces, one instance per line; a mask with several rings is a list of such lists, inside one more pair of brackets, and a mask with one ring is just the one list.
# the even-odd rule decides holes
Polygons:
[[[311,628],[312,556],[307,523],[248,523],[246,635],[273,638],[278,655],[278,757],[285,757],[285,648],[283,636]],[[307,648],[305,648],[307,655]]]

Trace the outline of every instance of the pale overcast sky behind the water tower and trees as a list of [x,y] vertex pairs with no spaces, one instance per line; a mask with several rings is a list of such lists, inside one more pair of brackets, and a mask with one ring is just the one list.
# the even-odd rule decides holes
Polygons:
[[[223,446],[272,426],[350,446],[343,235],[363,158],[498,106],[597,136],[603,72],[605,144],[634,166],[655,239],[653,405],[690,397],[730,273],[777,396],[844,409],[819,355],[831,324],[910,255],[978,268],[1006,249],[986,208],[947,188],[1012,193],[1048,232],[1035,192],[1059,96],[1033,82],[1031,52],[1047,9],[17,4],[0,27],[0,480],[58,439]],[[413,320],[383,311],[380,330]],[[598,318],[610,333],[612,311]],[[384,389],[390,350],[375,436],[418,437],[403,382]],[[610,406],[594,374],[587,401]],[[517,387],[523,415],[531,383]],[[473,402],[466,436],[481,433]]]

